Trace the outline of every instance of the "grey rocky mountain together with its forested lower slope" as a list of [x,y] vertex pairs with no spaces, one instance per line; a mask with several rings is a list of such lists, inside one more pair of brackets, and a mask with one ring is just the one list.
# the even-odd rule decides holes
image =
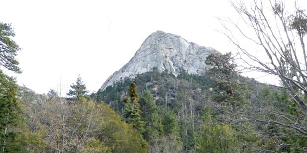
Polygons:
[[[231,137],[235,136],[235,129],[228,125],[207,126],[204,124],[228,119],[229,115],[221,112],[221,108],[239,110],[247,105],[251,105],[251,109],[259,108],[259,102],[267,99],[267,96],[264,95],[269,95],[269,92],[275,90],[240,75],[229,75],[231,79],[229,81],[223,78],[228,75],[229,71],[219,73],[215,69],[217,75],[221,76],[219,79],[216,79],[217,75],[214,73],[205,73],[210,70],[205,60],[209,54],[214,52],[217,51],[188,42],[178,35],[162,31],[154,32],[146,38],[135,56],[110,76],[102,88],[91,95],[91,98],[97,103],[105,102],[124,120],[128,108],[124,99],[129,96],[130,85],[134,82],[139,95],[141,120],[147,122],[145,126],[147,133],[154,133],[149,130],[159,129],[150,127],[153,125],[149,123],[153,120],[152,118],[160,118],[163,126],[163,134],[154,134],[157,139],[148,141],[149,153],[203,153],[198,150],[204,148],[205,143],[209,143],[207,146],[215,147],[216,144],[224,144],[225,140],[230,140],[228,136],[221,134],[229,133]],[[238,84],[232,82],[238,82]],[[231,92],[228,92],[229,89]],[[155,106],[151,109],[147,105],[150,101],[151,106]],[[158,112],[149,119],[149,112],[153,110],[158,110]],[[242,127],[245,128],[246,125],[243,123]],[[238,132],[242,127],[238,127]],[[258,128],[258,126],[255,127]],[[257,142],[259,138],[241,139],[244,134],[240,132],[239,135],[240,138],[231,138],[229,144],[243,148],[245,150],[243,152],[250,152],[254,149],[246,150],[242,144],[251,143],[253,147],[256,146],[255,144],[261,144]],[[244,140],[244,142],[233,143],[234,140]],[[223,147],[217,145],[217,150],[220,148]],[[238,150],[228,150],[227,146],[223,149],[224,152],[238,152]]]

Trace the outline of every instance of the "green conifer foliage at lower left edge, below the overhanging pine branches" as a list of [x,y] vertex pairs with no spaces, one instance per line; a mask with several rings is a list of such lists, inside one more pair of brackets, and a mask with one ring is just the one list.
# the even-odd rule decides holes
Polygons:
[[5,153],[22,149],[19,128],[23,120],[17,91],[15,81],[0,71],[0,151]]

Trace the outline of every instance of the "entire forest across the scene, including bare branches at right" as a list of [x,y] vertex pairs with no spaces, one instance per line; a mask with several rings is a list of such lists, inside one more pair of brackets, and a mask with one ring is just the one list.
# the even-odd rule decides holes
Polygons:
[[[0,22],[0,153],[307,152],[305,11],[289,14],[276,1],[231,4],[254,37],[222,22],[240,53],[212,53],[204,75],[154,69],[91,94],[78,76],[67,96],[37,94],[3,72],[22,73],[14,31]],[[244,48],[226,23],[268,61]],[[281,85],[242,70],[277,76]]]

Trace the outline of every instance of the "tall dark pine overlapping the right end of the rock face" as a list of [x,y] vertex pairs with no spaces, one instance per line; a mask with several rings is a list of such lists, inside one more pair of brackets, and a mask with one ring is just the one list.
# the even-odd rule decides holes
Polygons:
[[222,105],[232,105],[232,109],[243,107],[247,103],[245,99],[246,88],[239,84],[239,74],[235,71],[236,64],[233,62],[231,52],[226,54],[213,53],[206,59],[206,64],[213,66],[208,70],[213,80],[212,100]]

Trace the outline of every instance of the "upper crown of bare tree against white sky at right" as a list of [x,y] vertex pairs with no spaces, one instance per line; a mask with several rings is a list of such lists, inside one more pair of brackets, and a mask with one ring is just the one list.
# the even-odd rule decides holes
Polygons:
[[224,34],[240,49],[241,55],[248,58],[241,58],[248,68],[278,76],[282,85],[306,113],[307,106],[303,98],[307,97],[307,56],[304,41],[307,16],[299,7],[295,8],[294,14],[287,13],[282,1],[269,0],[269,4],[270,6],[264,6],[264,2],[253,0],[251,6],[247,7],[242,2],[232,1],[231,5],[248,28],[242,28],[232,21],[227,22],[244,38],[261,47],[268,61],[264,60],[263,55],[253,54],[254,50],[251,48],[242,47],[242,42],[236,40],[233,34],[235,30],[226,24],[223,24],[226,29]]

